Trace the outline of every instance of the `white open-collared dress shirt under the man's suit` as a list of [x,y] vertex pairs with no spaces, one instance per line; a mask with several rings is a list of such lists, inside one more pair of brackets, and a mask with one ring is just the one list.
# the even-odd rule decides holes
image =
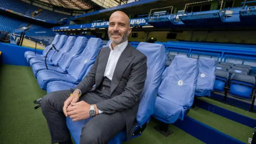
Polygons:
[[105,72],[104,72],[104,76],[106,76],[110,80],[112,80],[114,70],[116,68],[116,64],[117,64],[122,52],[124,51],[124,49],[128,45],[128,40],[126,40],[122,44],[118,44],[114,48],[114,50],[112,49],[111,44],[112,44],[112,42],[109,44],[110,54],[108,56],[108,63],[106,65],[106,69],[105,69]]

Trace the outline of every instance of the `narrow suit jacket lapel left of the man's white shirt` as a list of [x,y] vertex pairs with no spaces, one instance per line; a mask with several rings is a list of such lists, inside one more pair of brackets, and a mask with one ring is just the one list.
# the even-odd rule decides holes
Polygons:
[[104,72],[106,70],[106,66],[108,63],[108,57],[110,54],[110,48],[106,48],[106,50],[102,51],[101,56],[99,56],[100,60],[98,62],[98,66],[97,66],[97,71],[96,71],[96,80],[95,80],[95,85],[96,88],[98,88],[98,86],[101,84],[103,76],[104,76]]

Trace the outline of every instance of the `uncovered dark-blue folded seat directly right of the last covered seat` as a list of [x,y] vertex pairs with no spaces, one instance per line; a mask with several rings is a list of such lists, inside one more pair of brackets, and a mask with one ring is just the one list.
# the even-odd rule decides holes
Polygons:
[[216,70],[216,78],[214,82],[214,90],[224,92],[224,87],[228,86],[228,72]]

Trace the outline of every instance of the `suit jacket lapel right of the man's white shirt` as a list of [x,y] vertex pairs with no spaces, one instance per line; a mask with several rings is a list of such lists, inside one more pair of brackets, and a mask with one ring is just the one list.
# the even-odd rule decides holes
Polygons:
[[117,64],[116,68],[114,70],[113,78],[111,81],[111,86],[110,86],[110,95],[116,87],[118,86],[122,75],[124,74],[124,70],[126,70],[127,66],[132,62],[134,57],[132,57],[132,50],[131,46],[128,44],[124,51],[122,52]]

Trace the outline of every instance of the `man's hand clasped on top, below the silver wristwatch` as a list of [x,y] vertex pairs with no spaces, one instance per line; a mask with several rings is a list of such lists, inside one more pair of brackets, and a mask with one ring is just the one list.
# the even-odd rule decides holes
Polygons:
[[72,118],[73,122],[85,120],[90,117],[88,114],[90,106],[91,105],[85,101],[76,102],[67,108],[67,116]]

